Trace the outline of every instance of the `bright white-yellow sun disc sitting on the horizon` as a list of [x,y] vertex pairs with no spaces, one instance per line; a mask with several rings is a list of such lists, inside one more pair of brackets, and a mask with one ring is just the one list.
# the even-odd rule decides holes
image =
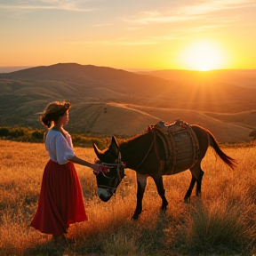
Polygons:
[[207,71],[224,67],[225,53],[220,45],[210,41],[196,41],[181,53],[185,69]]

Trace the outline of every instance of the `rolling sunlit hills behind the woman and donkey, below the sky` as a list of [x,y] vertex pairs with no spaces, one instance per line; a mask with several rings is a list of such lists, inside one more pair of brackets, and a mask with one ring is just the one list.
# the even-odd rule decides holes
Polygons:
[[122,69],[60,63],[0,74],[0,125],[43,128],[38,116],[69,100],[70,132],[133,136],[159,120],[201,124],[223,142],[256,130],[256,70]]

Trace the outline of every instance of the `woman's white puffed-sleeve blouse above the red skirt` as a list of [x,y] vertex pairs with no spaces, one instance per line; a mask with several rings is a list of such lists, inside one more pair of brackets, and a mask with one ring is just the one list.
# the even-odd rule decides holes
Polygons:
[[50,159],[58,164],[67,164],[68,159],[75,156],[72,138],[68,132],[65,138],[60,131],[49,130],[45,138],[45,148]]

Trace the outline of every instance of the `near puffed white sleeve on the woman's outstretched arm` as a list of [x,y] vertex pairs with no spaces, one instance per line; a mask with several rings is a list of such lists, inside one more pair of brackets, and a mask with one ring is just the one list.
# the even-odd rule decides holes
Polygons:
[[56,155],[58,164],[67,164],[68,159],[75,156],[73,148],[68,145],[62,134],[56,138]]

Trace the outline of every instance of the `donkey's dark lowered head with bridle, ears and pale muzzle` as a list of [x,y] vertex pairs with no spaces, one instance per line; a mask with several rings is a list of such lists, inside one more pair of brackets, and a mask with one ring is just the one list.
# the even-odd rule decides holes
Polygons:
[[108,149],[101,151],[94,143],[93,148],[96,156],[99,158],[97,164],[109,166],[107,172],[95,173],[98,196],[104,202],[116,193],[116,188],[124,178],[124,163],[121,161],[121,153],[116,138],[112,137]]

